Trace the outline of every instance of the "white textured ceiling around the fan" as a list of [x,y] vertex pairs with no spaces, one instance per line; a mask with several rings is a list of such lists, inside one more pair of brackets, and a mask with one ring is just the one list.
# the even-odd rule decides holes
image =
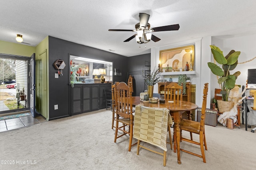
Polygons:
[[[47,35],[127,57],[150,48],[206,36],[256,33],[255,0],[2,0],[0,40],[36,46]],[[139,13],[150,14],[151,27],[180,24],[178,31],[155,32],[158,42],[139,45],[134,29]]]

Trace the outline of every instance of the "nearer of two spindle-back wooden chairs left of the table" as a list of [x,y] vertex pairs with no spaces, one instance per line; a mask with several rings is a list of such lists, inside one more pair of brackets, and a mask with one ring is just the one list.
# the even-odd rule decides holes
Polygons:
[[[131,87],[131,82],[129,83],[129,86],[125,82],[120,82],[115,86],[116,132],[114,143],[116,143],[116,139],[118,139],[119,137],[122,137],[126,134],[130,135],[128,151],[131,151],[131,147],[133,146],[133,115]],[[120,134],[119,131],[121,131],[122,133]]]

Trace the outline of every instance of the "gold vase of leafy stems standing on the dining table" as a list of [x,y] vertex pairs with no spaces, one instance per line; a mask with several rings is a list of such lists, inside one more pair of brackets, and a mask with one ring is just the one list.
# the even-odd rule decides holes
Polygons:
[[156,83],[158,83],[160,81],[160,70],[159,68],[155,70],[153,70],[153,72],[151,74],[146,74],[143,70],[142,70],[142,76],[144,78],[145,84],[148,86],[148,97],[152,98],[153,97],[153,88],[154,85]]

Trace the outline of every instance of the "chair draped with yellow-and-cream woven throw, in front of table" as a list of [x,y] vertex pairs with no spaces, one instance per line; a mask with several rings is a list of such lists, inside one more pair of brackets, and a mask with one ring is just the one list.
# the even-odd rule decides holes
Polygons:
[[[138,139],[137,155],[139,154],[140,148],[163,155],[164,166],[166,166],[167,131],[169,131],[170,141],[172,141],[168,120],[170,120],[169,109],[159,109],[142,105],[135,106],[133,134],[134,138]],[[145,143],[141,144],[141,141]],[[148,144],[157,146],[164,150],[164,152],[149,149]]]

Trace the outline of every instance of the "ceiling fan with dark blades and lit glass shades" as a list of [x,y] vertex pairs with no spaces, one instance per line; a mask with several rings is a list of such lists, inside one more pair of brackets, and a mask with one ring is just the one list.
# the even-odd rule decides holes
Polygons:
[[137,23],[135,25],[135,30],[133,30],[133,29],[108,29],[108,31],[137,32],[136,34],[132,35],[132,37],[124,40],[124,42],[128,42],[131,39],[133,39],[134,37],[136,37],[137,43],[142,44],[142,43],[148,43],[150,40],[152,40],[154,42],[161,40],[160,38],[152,35],[152,32],[173,31],[173,30],[179,30],[179,28],[180,28],[179,24],[150,28],[150,23],[148,23],[150,15],[145,14],[145,13],[140,13],[139,17],[140,17],[140,23]]

